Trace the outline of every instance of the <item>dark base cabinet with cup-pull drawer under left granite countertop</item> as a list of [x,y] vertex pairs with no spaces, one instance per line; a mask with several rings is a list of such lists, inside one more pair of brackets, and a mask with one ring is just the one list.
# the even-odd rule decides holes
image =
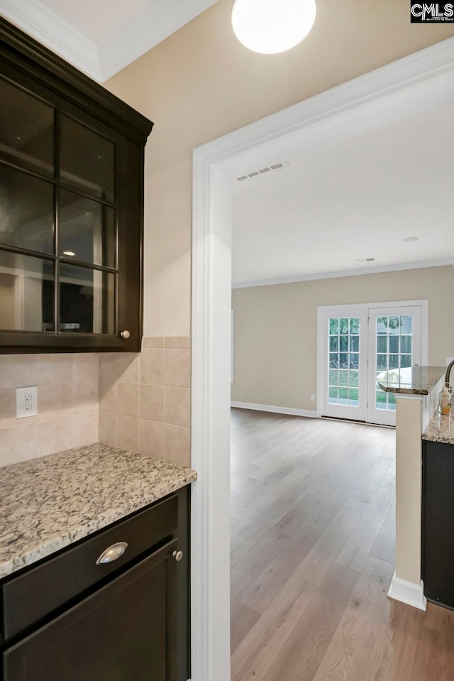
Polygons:
[[[33,621],[36,616],[40,619],[11,641],[5,641],[2,680],[187,681],[188,514],[189,490],[184,488],[59,555],[5,579],[3,631],[15,631],[20,621]],[[169,535],[172,524],[177,527]],[[148,529],[153,542],[157,536],[165,536],[142,551]],[[40,580],[52,580],[54,574],[57,589],[61,584],[58,590],[66,598],[73,588],[66,583],[66,579],[71,579],[71,570],[84,570],[89,565],[84,578],[92,582],[96,574],[92,570],[92,565],[96,565],[93,559],[99,547],[111,545],[112,538],[118,537],[129,540],[130,560],[126,550],[120,567],[116,568],[114,563],[97,565],[95,584],[41,617],[39,596],[33,605]],[[136,551],[142,552],[137,556]],[[178,561],[179,551],[183,557]],[[69,559],[68,552],[72,553]],[[52,581],[43,583],[40,591],[45,593],[46,589],[54,592]],[[17,609],[23,609],[19,617]]]

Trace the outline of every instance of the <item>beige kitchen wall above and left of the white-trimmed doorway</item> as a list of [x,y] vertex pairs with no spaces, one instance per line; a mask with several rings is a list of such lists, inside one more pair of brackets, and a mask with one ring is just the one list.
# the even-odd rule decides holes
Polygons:
[[145,334],[190,332],[192,150],[454,36],[410,24],[408,0],[317,0],[309,36],[282,55],[244,48],[219,0],[107,82],[155,121],[146,153]]

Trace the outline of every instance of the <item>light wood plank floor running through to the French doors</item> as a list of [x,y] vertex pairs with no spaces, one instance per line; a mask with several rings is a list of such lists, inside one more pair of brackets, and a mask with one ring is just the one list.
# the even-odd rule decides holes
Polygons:
[[454,681],[454,613],[387,598],[394,440],[233,410],[232,681]]

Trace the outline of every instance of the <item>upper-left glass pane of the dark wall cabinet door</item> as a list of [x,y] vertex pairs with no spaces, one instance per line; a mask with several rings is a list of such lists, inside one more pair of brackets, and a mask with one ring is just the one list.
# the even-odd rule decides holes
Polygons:
[[0,102],[0,158],[52,176],[54,109],[2,78]]

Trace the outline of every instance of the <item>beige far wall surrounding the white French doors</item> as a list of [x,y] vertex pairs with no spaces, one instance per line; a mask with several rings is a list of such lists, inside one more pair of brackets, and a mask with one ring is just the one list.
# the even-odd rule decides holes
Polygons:
[[429,364],[454,356],[454,267],[319,279],[233,290],[232,400],[316,408],[317,307],[428,300]]

